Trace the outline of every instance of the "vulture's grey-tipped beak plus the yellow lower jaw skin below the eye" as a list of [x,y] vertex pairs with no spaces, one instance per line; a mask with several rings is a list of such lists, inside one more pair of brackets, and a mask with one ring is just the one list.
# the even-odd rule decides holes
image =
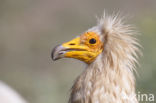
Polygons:
[[77,37],[62,45],[56,46],[51,53],[53,60],[61,58],[75,58],[86,63],[90,63],[96,54],[91,52],[90,48],[80,43],[80,37]]

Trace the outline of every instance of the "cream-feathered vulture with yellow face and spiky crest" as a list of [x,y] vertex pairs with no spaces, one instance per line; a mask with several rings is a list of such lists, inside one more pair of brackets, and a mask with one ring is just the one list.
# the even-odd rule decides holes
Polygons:
[[140,54],[136,34],[122,16],[104,15],[96,26],[53,49],[53,60],[75,58],[87,64],[69,103],[138,103],[133,73]]

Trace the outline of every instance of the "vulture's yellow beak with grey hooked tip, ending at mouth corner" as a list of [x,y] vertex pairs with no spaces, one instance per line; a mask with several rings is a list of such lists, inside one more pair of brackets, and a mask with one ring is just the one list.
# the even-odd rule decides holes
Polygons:
[[88,47],[80,44],[80,37],[77,37],[69,42],[63,43],[62,45],[56,46],[51,53],[53,60],[61,58],[76,58],[80,59],[84,56],[84,52],[87,52]]

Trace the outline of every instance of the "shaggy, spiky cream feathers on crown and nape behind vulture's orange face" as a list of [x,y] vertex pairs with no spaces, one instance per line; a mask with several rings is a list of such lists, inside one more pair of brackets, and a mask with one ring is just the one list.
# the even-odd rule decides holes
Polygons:
[[[107,16],[105,13],[98,19],[97,26],[88,31],[97,32],[104,43],[103,61],[111,66],[128,67],[135,70],[138,54],[141,54],[141,47],[136,39],[138,32],[134,26],[125,23],[125,17],[119,13]],[[98,59],[98,58],[97,58]]]

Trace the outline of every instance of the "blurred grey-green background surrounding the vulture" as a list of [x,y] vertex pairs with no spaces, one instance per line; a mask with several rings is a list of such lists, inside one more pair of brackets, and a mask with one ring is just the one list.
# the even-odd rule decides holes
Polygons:
[[1,0],[0,80],[30,103],[67,103],[85,66],[53,62],[51,50],[94,26],[104,10],[129,15],[142,34],[137,91],[156,95],[156,0]]

